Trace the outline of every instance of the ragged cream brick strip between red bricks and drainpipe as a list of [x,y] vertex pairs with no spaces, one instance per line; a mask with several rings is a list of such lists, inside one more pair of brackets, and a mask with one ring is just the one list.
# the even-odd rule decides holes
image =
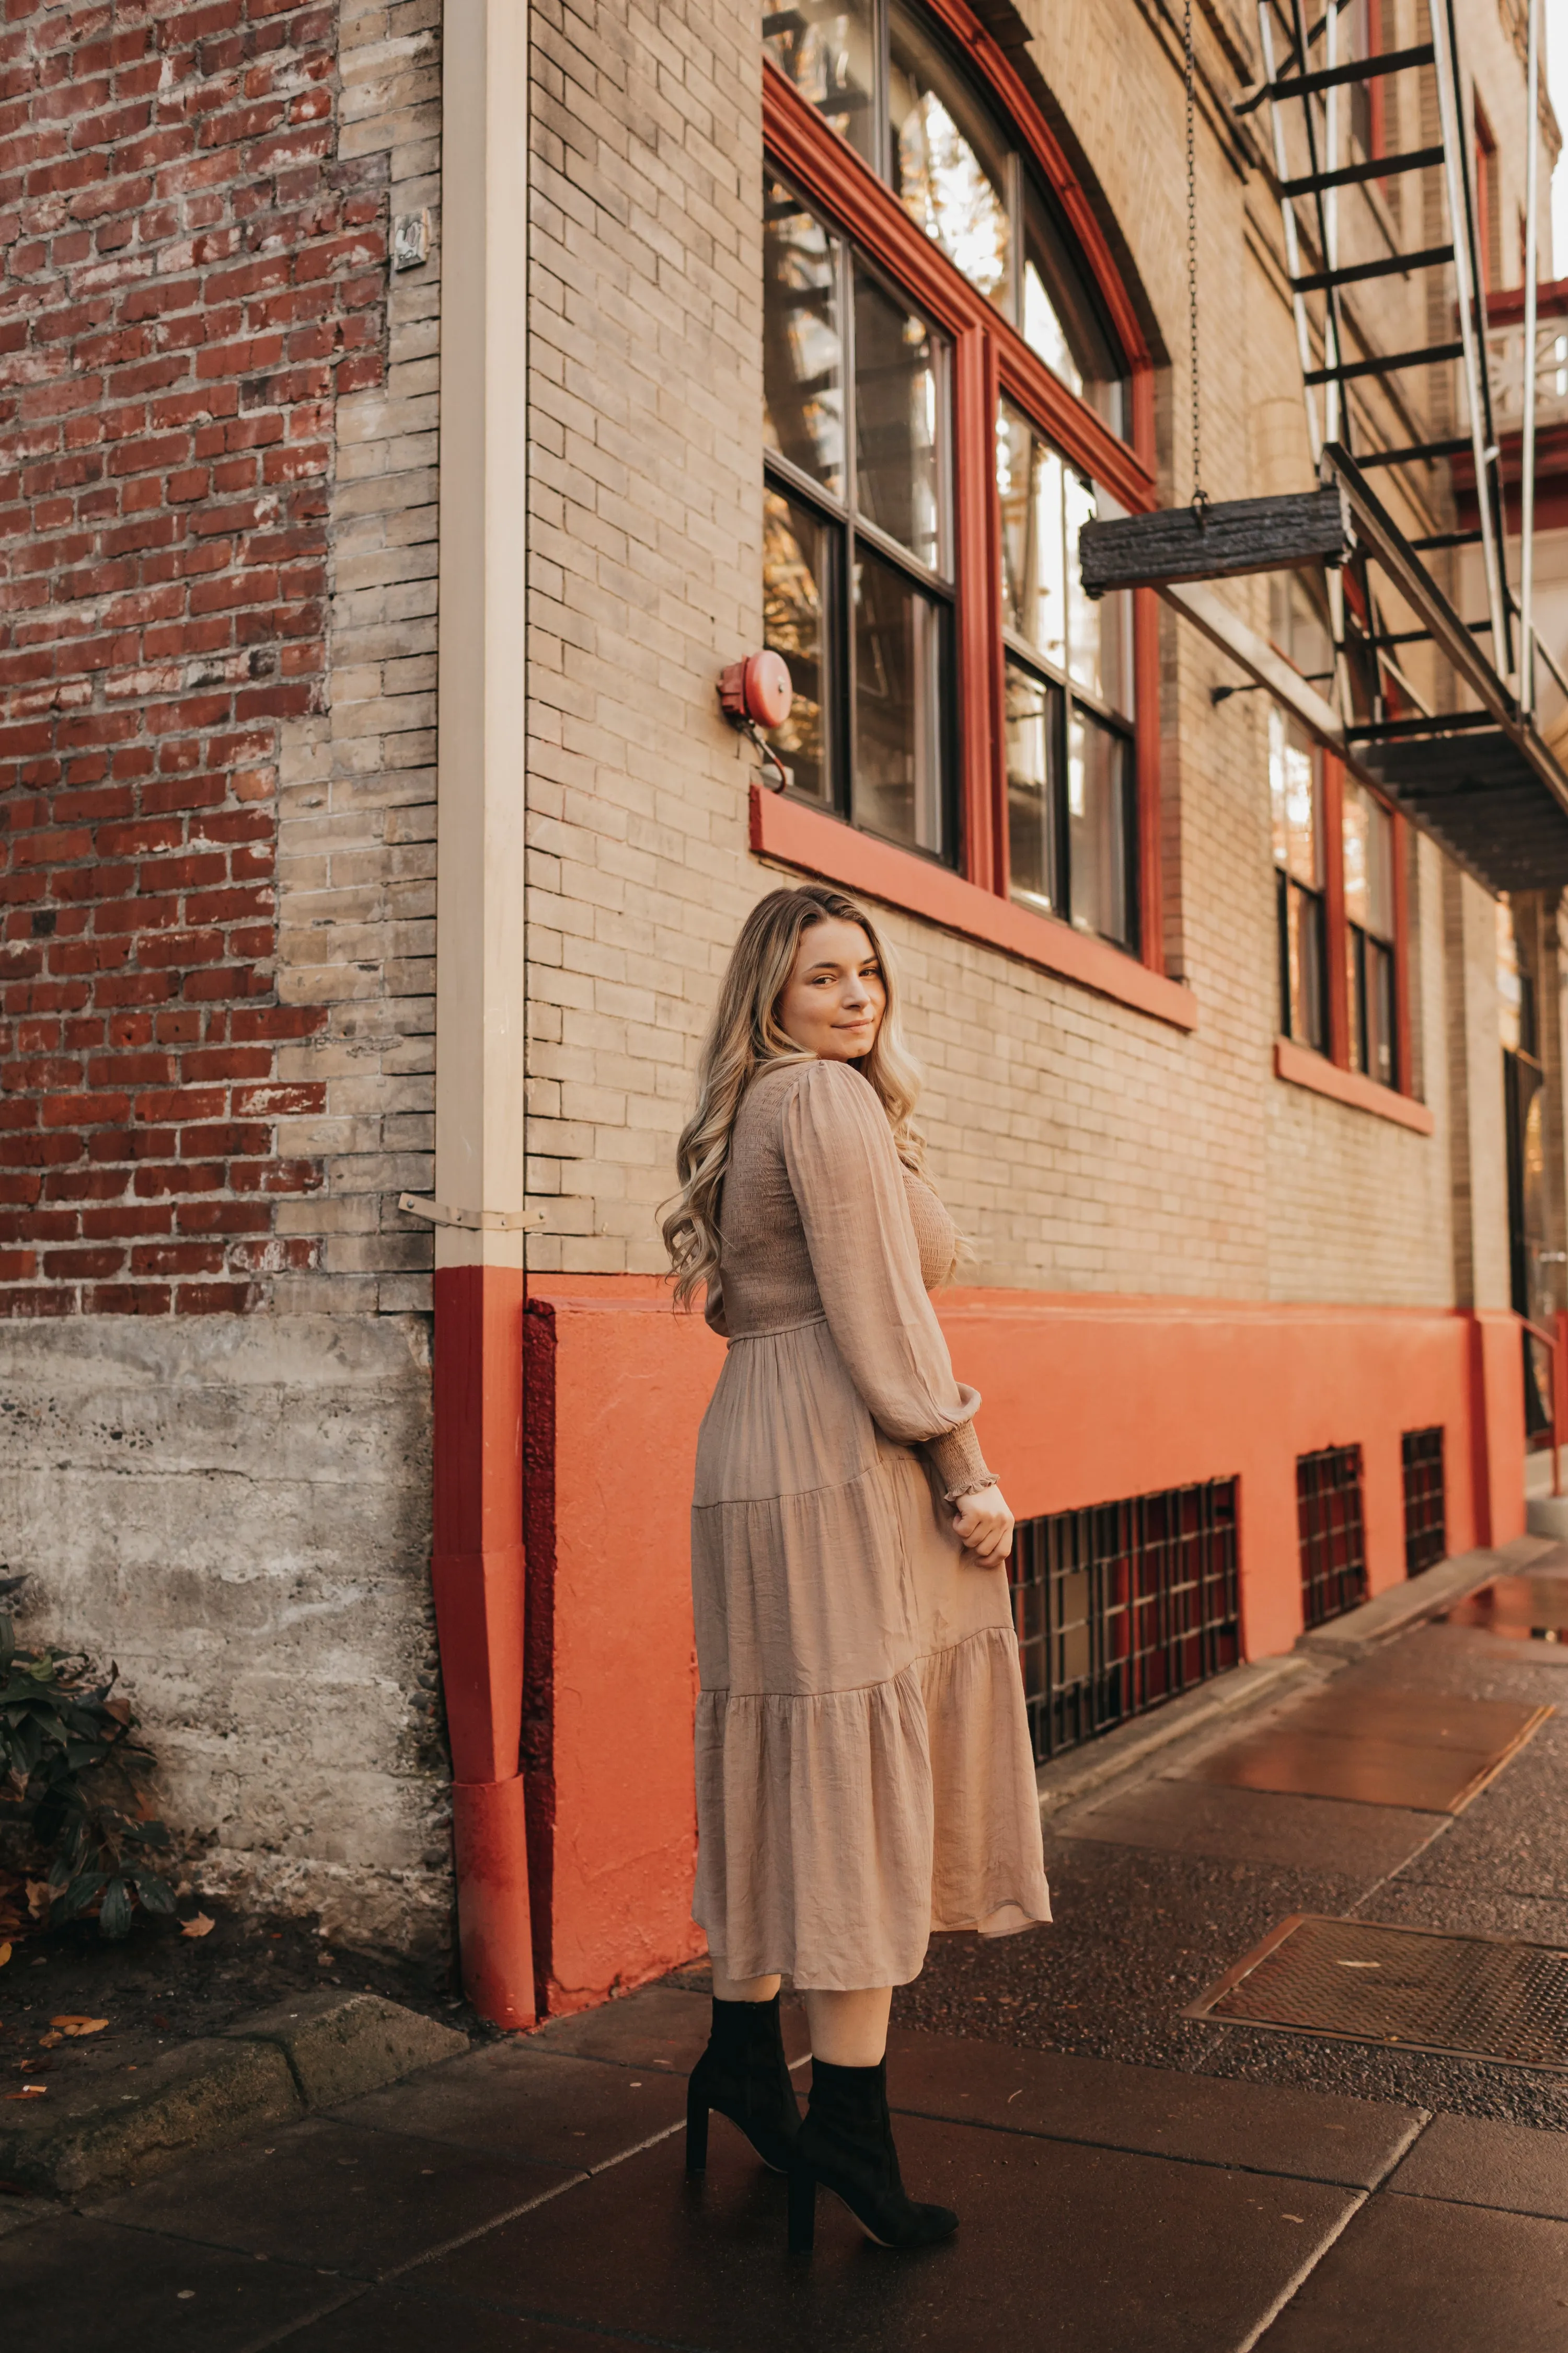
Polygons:
[[327,1024],[282,1073],[324,1080],[277,1151],[324,1186],[277,1228],[317,1266],[280,1313],[430,1304],[430,1233],[397,1191],[430,1191],[435,1087],[435,546],[440,369],[440,0],[346,0],[343,151],[386,155],[388,214],[430,209],[421,268],[388,282],[386,386],[339,402],[331,482],[329,708],[289,729],[280,793],[277,991]]

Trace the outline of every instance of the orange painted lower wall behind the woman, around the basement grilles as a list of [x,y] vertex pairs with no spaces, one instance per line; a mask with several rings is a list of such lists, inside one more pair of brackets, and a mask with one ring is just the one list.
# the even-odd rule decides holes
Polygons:
[[[686,1511],[724,1348],[656,1278],[536,1275],[555,1315],[550,2009],[701,1951]],[[1300,1633],[1295,1457],[1363,1449],[1373,1593],[1403,1577],[1399,1435],[1448,1431],[1448,1548],[1523,1529],[1519,1322],[1453,1311],[952,1289],[952,1358],[1025,1518],[1241,1480],[1251,1659]]]

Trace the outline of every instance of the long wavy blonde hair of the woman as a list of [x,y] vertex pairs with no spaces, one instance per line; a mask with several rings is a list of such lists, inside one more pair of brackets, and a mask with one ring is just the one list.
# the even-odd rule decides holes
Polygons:
[[741,1096],[759,1071],[790,1061],[813,1061],[785,1035],[778,1021],[778,998],[795,969],[802,934],[818,922],[858,922],[882,967],[886,1012],[877,1042],[860,1071],[882,1099],[893,1129],[893,1146],[905,1167],[922,1174],[926,1144],[912,1125],[922,1071],[903,1042],[898,1019],[898,974],[877,925],[827,882],[802,882],[759,899],[741,925],[731,948],[719,1002],[715,1005],[698,1061],[696,1111],[675,1146],[679,1193],[661,1233],[675,1268],[675,1304],[691,1306],[698,1287],[719,1271],[719,1195]]

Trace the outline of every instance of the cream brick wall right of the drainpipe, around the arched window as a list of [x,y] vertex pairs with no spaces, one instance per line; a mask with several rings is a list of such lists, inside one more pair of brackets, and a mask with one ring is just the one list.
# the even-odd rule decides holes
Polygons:
[[[1161,431],[1185,496],[1178,59],[1133,0],[1027,14],[1178,360]],[[534,26],[529,1186],[548,1231],[529,1257],[656,1271],[654,1212],[717,972],[778,880],[745,849],[750,758],[712,706],[719,666],[762,633],[757,24],[689,0],[614,21],[541,5]],[[1213,28],[1201,54],[1234,89]],[[1279,214],[1213,104],[1199,228],[1208,487],[1309,480],[1262,242],[1276,249]],[[1267,624],[1262,584],[1229,595]],[[1267,713],[1255,694],[1215,708],[1237,673],[1171,619],[1161,664],[1171,962],[1197,998],[1194,1038],[889,915],[973,1280],[1450,1299],[1441,861],[1420,849],[1410,894],[1418,1066],[1439,1115],[1422,1139],[1272,1075]]]

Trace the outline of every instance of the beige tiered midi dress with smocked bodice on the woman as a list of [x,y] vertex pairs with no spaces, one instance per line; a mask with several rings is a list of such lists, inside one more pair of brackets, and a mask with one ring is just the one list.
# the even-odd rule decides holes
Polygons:
[[945,1504],[990,1475],[926,1297],[952,1264],[856,1068],[752,1080],[691,1511],[691,1908],[731,1977],[900,1986],[933,1929],[1051,1918],[1006,1572]]

